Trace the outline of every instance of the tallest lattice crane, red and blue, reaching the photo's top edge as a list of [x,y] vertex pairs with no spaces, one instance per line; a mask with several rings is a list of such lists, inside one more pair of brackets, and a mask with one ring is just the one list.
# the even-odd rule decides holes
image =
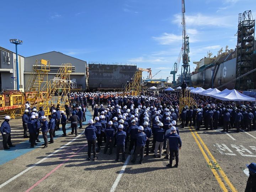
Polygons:
[[190,74],[190,58],[188,57],[189,50],[189,37],[186,33],[186,22],[185,22],[185,0],[182,1],[182,68],[181,68],[181,82],[186,81],[188,85],[191,85],[191,74]]

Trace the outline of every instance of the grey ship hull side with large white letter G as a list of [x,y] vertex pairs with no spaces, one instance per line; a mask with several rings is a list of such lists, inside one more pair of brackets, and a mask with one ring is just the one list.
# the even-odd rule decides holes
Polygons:
[[[191,81],[192,85],[194,87],[203,87],[203,88],[209,88],[212,86],[212,69],[214,69],[214,66],[212,68],[205,69],[203,71],[200,71],[196,74],[191,75]],[[217,72],[216,78],[213,82],[213,88],[216,88],[220,85],[225,84],[226,82],[229,82],[233,79],[235,79],[236,76],[236,58],[231,59],[227,62],[221,63],[219,66],[219,70]],[[229,84],[223,86],[220,88],[220,90],[224,89],[234,89],[235,87],[235,81],[230,82]]]

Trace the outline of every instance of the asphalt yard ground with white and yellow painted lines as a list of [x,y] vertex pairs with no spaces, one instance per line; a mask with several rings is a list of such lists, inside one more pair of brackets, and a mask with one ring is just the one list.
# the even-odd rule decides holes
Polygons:
[[[87,121],[91,117],[87,111]],[[69,134],[54,138],[54,144],[46,149],[39,145],[30,149],[28,140],[22,137],[21,119],[12,119],[10,124],[16,147],[8,152],[0,148],[0,159],[4,159],[0,166],[0,191],[7,192],[244,191],[248,178],[245,164],[256,159],[255,131],[249,135],[231,129],[228,135],[180,128],[179,166],[170,169],[166,167],[169,160],[154,158],[153,153],[144,157],[142,165],[137,163],[139,157],[132,164],[128,153],[126,162],[116,162],[116,148],[108,155],[103,154],[104,146],[96,161],[87,161],[84,129],[79,129],[78,137]],[[18,154],[13,157],[12,153]]]

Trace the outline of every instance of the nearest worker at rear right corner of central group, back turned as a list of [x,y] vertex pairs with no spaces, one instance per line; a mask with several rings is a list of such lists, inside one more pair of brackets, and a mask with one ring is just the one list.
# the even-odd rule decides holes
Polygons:
[[181,149],[182,142],[181,142],[180,135],[176,133],[175,127],[171,128],[171,133],[167,134],[166,138],[169,139],[169,149],[170,149],[170,162],[169,164],[167,164],[167,166],[172,167],[172,160],[175,154],[176,164],[174,165],[174,167],[178,167],[178,160],[179,160],[178,152],[179,152],[179,149]]

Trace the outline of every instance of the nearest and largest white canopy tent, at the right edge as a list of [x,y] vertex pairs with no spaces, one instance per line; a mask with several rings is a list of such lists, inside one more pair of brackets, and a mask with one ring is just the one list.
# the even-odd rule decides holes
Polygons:
[[[215,94],[212,97],[217,98],[222,101],[256,101],[256,98],[249,97],[247,95],[241,94],[240,92],[233,90],[224,90],[223,94]],[[223,91],[222,91],[223,92]]]

